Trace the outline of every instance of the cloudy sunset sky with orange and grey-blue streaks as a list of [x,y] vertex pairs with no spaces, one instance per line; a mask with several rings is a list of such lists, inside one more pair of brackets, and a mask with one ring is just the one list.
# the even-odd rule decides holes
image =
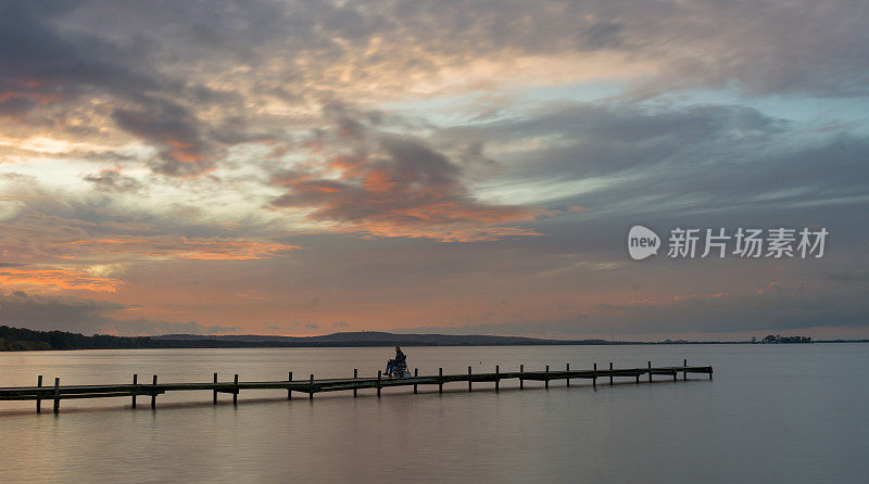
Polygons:
[[[0,1],[0,323],[869,337],[869,2]],[[628,229],[826,228],[635,262]]]

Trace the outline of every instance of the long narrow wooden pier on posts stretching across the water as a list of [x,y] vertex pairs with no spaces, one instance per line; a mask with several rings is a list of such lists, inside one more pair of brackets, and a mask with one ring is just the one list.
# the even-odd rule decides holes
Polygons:
[[242,390],[286,390],[287,399],[292,399],[293,392],[305,394],[310,399],[314,399],[314,394],[320,392],[352,391],[355,397],[360,390],[374,389],[379,397],[381,389],[393,386],[413,386],[414,393],[417,393],[419,385],[437,385],[438,393],[442,394],[443,385],[446,383],[466,382],[468,392],[474,390],[475,383],[494,383],[494,390],[498,392],[502,380],[518,380],[519,389],[524,390],[526,381],[540,381],[544,383],[544,387],[549,389],[550,381],[566,380],[567,386],[570,386],[570,380],[584,379],[591,380],[592,385],[596,387],[599,378],[608,379],[610,385],[615,378],[632,379],[639,384],[643,375],[647,375],[651,383],[653,375],[668,377],[668,379],[672,378],[673,381],[678,381],[679,373],[682,374],[682,380],[688,380],[689,373],[708,374],[711,380],[713,367],[689,367],[688,360],[684,360],[681,367],[653,368],[652,362],[648,361],[645,368],[614,369],[610,362],[608,369],[597,369],[597,364],[594,364],[594,368],[591,370],[571,370],[570,365],[567,364],[564,370],[551,370],[546,366],[543,371],[525,371],[525,365],[520,365],[519,371],[508,372],[501,371],[501,367],[495,366],[494,373],[474,373],[473,368],[468,367],[467,373],[443,374],[443,369],[439,368],[437,375],[419,377],[418,370],[414,370],[414,377],[399,379],[385,378],[380,371],[377,372],[376,378],[360,378],[358,370],[354,369],[353,378],[319,380],[315,379],[313,374],[306,379],[293,380],[290,371],[287,380],[273,382],[243,382],[239,381],[238,374],[234,375],[231,382],[219,382],[217,373],[214,373],[214,381],[209,383],[159,383],[156,374],[153,375],[150,383],[140,383],[138,374],[134,374],[131,384],[68,386],[61,386],[60,378],[54,379],[53,386],[42,386],[42,375],[40,374],[36,386],[0,387],[0,400],[36,400],[37,413],[41,411],[42,400],[51,400],[54,404],[54,413],[58,413],[62,399],[127,397],[131,398],[131,408],[136,408],[137,397],[146,396],[151,397],[151,408],[154,409],[158,395],[197,390],[211,391],[215,405],[218,393],[230,394],[232,404],[237,405],[238,394]]

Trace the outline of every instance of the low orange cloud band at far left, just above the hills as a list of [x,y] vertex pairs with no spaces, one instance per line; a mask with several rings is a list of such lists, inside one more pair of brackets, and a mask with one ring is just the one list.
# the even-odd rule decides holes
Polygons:
[[0,270],[0,285],[3,288],[37,293],[62,290],[115,292],[122,283],[118,279],[93,277],[80,270],[22,268]]

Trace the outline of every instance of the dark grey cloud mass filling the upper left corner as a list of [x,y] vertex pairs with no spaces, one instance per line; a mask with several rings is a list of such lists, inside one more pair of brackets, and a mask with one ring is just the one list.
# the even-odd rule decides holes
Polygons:
[[[149,164],[167,176],[207,171],[219,154],[221,140],[244,138],[231,125],[210,136],[211,124],[173,100],[231,109],[238,97],[160,73],[149,51],[155,49],[153,42],[141,42],[142,38],[114,41],[100,36],[99,29],[88,33],[60,26],[64,13],[89,7],[90,2],[63,9],[38,2],[0,4],[0,115],[36,125],[53,120],[73,133],[93,133],[98,128],[80,122],[97,123],[99,113],[88,113],[72,125],[67,113],[83,107],[79,101],[85,94],[102,99],[114,106],[111,118],[118,128],[159,149],[159,160]],[[37,107],[42,111],[27,117]]]

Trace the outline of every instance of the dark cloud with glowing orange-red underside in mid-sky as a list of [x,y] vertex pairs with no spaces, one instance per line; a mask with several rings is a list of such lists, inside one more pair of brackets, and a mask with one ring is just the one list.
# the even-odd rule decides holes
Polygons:
[[[313,208],[311,219],[344,222],[378,237],[452,241],[527,233],[501,226],[536,216],[529,207],[476,201],[461,167],[419,139],[382,133],[347,116],[338,119],[332,136],[352,150],[330,152],[313,171],[276,174],[272,184],[288,191],[273,206]],[[331,144],[324,131],[316,139]]]

